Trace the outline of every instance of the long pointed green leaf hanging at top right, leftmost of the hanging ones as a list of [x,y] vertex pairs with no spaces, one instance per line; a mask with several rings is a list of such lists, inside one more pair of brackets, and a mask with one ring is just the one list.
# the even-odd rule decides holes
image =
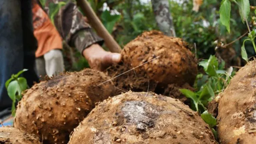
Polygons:
[[231,3],[229,0],[222,0],[220,6],[220,22],[226,26],[228,32],[230,32],[230,12]]

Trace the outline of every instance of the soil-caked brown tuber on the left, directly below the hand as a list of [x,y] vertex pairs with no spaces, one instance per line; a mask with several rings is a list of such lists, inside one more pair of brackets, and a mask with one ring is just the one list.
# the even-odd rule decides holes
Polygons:
[[65,144],[96,102],[117,95],[110,78],[85,69],[35,84],[19,102],[14,127],[36,134],[44,144]]

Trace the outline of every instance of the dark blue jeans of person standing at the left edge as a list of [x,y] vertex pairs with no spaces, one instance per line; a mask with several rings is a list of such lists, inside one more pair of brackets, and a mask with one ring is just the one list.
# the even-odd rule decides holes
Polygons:
[[26,68],[22,76],[28,85],[38,82],[34,70],[36,48],[31,0],[0,0],[0,118],[12,106],[5,88],[12,74]]

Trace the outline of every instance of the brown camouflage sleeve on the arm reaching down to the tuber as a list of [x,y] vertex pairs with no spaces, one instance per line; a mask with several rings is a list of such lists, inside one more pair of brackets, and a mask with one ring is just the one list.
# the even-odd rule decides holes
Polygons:
[[74,2],[68,2],[60,8],[58,14],[54,16],[54,24],[62,38],[81,53],[92,44],[102,45],[104,42],[85,22],[82,13]]

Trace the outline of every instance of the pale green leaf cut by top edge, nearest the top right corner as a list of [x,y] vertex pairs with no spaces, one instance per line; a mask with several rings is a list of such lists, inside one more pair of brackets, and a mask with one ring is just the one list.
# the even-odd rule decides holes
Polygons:
[[249,0],[237,0],[236,4],[238,4],[242,22],[244,22],[245,20],[247,20],[250,14],[250,2]]

